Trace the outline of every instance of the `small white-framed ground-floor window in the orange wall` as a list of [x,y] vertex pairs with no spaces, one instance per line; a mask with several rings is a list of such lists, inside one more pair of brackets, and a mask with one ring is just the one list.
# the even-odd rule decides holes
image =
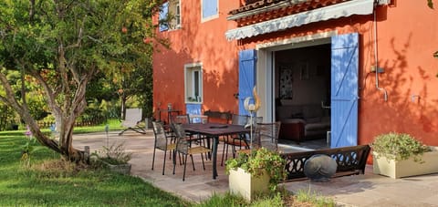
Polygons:
[[[196,87],[196,81],[197,87]],[[198,88],[198,91],[196,91]],[[198,92],[198,96],[195,96]],[[185,103],[203,103],[203,64],[184,65],[184,101]]]

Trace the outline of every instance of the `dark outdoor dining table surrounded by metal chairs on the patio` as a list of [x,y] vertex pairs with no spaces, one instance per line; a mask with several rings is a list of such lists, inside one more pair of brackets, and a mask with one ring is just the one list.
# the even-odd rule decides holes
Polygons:
[[250,132],[250,129],[245,129],[244,126],[241,125],[221,123],[183,124],[183,128],[185,131],[191,132],[192,134],[198,134],[200,136],[206,136],[213,139],[213,179],[216,179],[217,177],[216,158],[219,137]]

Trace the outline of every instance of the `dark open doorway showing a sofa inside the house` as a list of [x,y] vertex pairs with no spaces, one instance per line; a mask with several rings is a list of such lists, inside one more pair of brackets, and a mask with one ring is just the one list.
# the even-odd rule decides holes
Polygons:
[[329,148],[331,44],[274,52],[275,117],[280,143]]

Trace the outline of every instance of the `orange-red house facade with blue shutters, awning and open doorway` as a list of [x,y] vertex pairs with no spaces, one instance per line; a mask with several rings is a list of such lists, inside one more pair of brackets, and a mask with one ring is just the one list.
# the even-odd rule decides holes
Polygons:
[[168,104],[245,114],[255,86],[257,116],[328,122],[331,147],[390,131],[438,145],[438,13],[425,3],[172,0],[156,21],[168,14],[156,35],[171,46],[153,55],[161,119]]

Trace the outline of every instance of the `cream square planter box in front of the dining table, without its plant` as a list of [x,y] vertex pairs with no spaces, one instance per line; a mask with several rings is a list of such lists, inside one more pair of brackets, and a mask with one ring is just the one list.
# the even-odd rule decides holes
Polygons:
[[254,177],[241,168],[231,170],[228,178],[231,193],[242,195],[247,201],[252,201],[255,195],[269,191],[269,175],[265,172],[260,177]]

